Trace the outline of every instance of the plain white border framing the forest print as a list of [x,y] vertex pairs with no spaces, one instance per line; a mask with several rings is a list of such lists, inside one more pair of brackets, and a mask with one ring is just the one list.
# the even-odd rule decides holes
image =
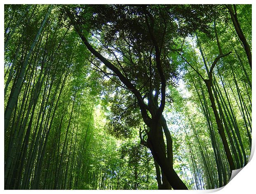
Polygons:
[[[255,48],[255,41],[254,41],[254,35],[255,35],[255,24],[254,24],[254,17],[255,17],[255,9],[254,9],[254,3],[252,0],[215,0],[215,1],[206,1],[206,0],[178,0],[178,1],[173,1],[173,0],[94,0],[94,1],[88,1],[88,0],[73,0],[73,1],[69,1],[69,0],[44,0],[44,1],[35,1],[35,0],[5,0],[4,2],[2,2],[2,5],[0,6],[0,14],[1,14],[1,31],[3,32],[3,26],[4,26],[4,4],[124,4],[124,3],[129,3],[129,4],[177,4],[177,2],[179,4],[252,4],[252,31],[253,31],[253,36],[252,36],[252,52],[254,51]],[[0,48],[2,48],[2,52],[0,54],[0,57],[2,59],[2,64],[3,64],[3,55],[4,55],[4,45],[3,45],[3,41],[4,40],[4,33],[1,34],[1,41],[0,41]],[[253,55],[253,62],[255,62],[256,59]],[[256,64],[253,63],[253,69],[252,69],[252,77],[253,77],[253,81],[252,81],[252,103],[254,105],[254,102],[256,102],[256,96],[255,96],[255,91],[256,91],[256,82],[254,81],[255,76],[256,76]],[[3,65],[2,68],[0,68],[0,91],[2,92],[4,89],[4,82],[3,82],[3,77],[4,77],[4,73],[3,73]],[[3,97],[3,92],[2,95],[0,96],[0,118],[2,118],[2,122],[0,122],[0,126],[1,129],[4,128],[4,97]],[[254,128],[255,125],[255,121],[254,118],[256,117],[256,113],[255,113],[255,107],[252,107],[252,126]],[[255,130],[255,129],[254,129]],[[159,190],[140,190],[140,191],[126,191],[126,190],[112,190],[112,191],[106,191],[106,190],[102,190],[102,191],[93,191],[93,190],[76,190],[76,191],[69,191],[69,190],[58,190],[58,191],[53,191],[53,190],[37,190],[36,192],[38,193],[45,193],[45,192],[50,192],[50,193],[130,193],[130,192],[140,192],[140,193],[145,193],[145,194],[153,194],[153,193],[175,193],[175,194],[186,194],[186,193],[211,193],[211,192],[218,192],[218,194],[226,194],[226,193],[232,193],[232,194],[251,194],[255,192],[255,188],[254,185],[256,184],[256,157],[252,157],[254,150],[255,150],[255,142],[256,142],[256,132],[253,130],[252,132],[252,148],[251,148],[251,158],[249,163],[247,164],[247,166],[245,166],[240,172],[239,175],[235,176],[225,187],[219,188],[219,189],[211,189],[211,190],[190,190],[190,191],[178,191],[178,190],[172,190],[172,191],[159,191]],[[1,142],[1,168],[0,168],[0,188],[3,192],[5,193],[14,193],[14,192],[19,192],[19,193],[33,193],[35,191],[33,190],[26,190],[26,191],[22,191],[22,190],[16,190],[16,191],[11,191],[11,190],[4,190],[4,137],[3,137],[3,130],[2,130],[2,134],[0,135],[0,142]],[[0,190],[0,191],[1,191]]]

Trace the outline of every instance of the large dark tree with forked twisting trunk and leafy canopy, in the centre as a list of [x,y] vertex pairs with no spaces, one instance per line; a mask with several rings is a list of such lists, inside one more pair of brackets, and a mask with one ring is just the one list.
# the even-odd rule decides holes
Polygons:
[[[109,69],[109,72],[102,71],[111,77],[117,77],[116,81],[121,88],[135,96],[135,104],[147,125],[143,131],[146,133],[143,136],[145,139],[141,138],[141,143],[149,147],[174,189],[187,187],[173,169],[173,141],[163,111],[166,104],[166,85],[174,84],[175,80],[175,65],[169,57],[171,48],[175,38],[185,37],[193,30],[182,22],[184,18],[181,14],[187,9],[190,7],[174,5],[65,8],[71,24],[85,46],[100,60],[98,64],[103,63]],[[199,23],[197,26],[204,28]],[[93,38],[99,40],[99,48],[95,48],[89,41],[86,36],[88,33],[92,33]]]

